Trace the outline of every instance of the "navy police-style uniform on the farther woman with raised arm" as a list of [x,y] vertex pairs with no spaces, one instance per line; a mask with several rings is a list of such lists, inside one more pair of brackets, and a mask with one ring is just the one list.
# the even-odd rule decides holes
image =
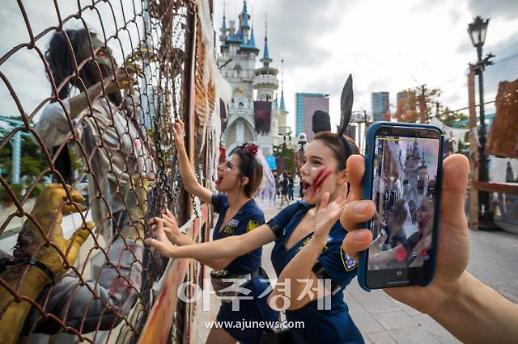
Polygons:
[[[219,214],[218,221],[214,227],[212,240],[218,240],[232,235],[242,235],[264,224],[263,211],[257,206],[257,203],[253,199],[246,202],[224,227],[222,227],[222,225],[229,207],[227,196],[225,194],[213,194],[212,205],[214,211]],[[255,272],[261,267],[261,254],[262,248],[258,248],[241,257],[237,257],[225,270],[235,275]],[[217,316],[218,321],[233,321],[237,323],[243,320],[279,320],[279,313],[271,309],[267,304],[271,290],[267,290],[270,285],[266,276],[258,275],[253,277],[249,282],[244,284],[243,287],[250,290],[250,293],[247,295],[249,298],[241,298],[239,300],[239,311],[232,310],[231,302],[222,302]],[[242,328],[237,327],[227,327],[225,331],[243,344],[259,343],[263,332],[261,328],[250,328],[243,331]]]

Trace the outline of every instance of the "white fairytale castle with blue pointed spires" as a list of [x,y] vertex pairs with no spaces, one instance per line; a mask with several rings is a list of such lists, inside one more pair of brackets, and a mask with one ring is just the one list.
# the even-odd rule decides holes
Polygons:
[[232,87],[222,143],[229,151],[253,141],[265,156],[270,156],[273,145],[283,142],[288,111],[282,90],[280,100],[277,100],[278,70],[271,66],[273,60],[268,51],[268,35],[265,32],[263,54],[259,60],[261,65],[257,68],[259,48],[255,43],[254,28],[250,25],[246,1],[243,1],[238,26],[230,20],[227,28],[224,14],[220,33],[218,66]]

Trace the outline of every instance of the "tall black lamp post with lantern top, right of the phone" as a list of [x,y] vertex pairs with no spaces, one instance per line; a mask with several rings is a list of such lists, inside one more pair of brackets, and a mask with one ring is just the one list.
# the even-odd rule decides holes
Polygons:
[[[486,120],[484,113],[484,77],[483,72],[486,66],[493,64],[490,59],[493,54],[488,54],[486,58],[482,58],[482,46],[486,40],[487,26],[489,19],[482,19],[477,16],[472,23],[468,25],[468,33],[471,38],[473,46],[477,49],[477,64],[475,65],[478,75],[478,90],[479,90],[479,114],[480,127],[479,135],[479,170],[478,180],[481,182],[489,181],[488,172],[488,157],[486,155]],[[491,226],[493,222],[493,214],[489,205],[489,193],[487,191],[479,191],[479,219],[482,226]]]

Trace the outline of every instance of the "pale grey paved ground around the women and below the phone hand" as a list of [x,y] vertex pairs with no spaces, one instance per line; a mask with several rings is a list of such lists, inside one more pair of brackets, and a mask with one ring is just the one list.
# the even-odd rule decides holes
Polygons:
[[[265,207],[266,220],[280,208]],[[470,231],[471,254],[468,270],[513,302],[518,303],[518,235],[503,231]],[[263,267],[270,278],[275,272],[270,253],[273,243],[263,248]],[[351,317],[366,343],[460,343],[428,315],[402,304],[383,291],[363,291],[356,280],[345,292]],[[204,321],[216,318],[219,305],[213,300],[211,311],[197,312],[194,343],[204,343],[208,329]]]

